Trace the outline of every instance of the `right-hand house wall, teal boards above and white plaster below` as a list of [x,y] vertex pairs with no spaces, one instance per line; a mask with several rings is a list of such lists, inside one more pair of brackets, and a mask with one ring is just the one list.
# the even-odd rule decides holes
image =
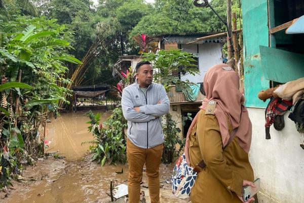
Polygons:
[[[273,36],[269,36],[273,1],[242,0],[244,87],[253,130],[249,157],[255,177],[261,180],[260,203],[300,203],[304,202],[304,150],[299,146],[300,134],[287,113],[284,129],[276,131],[272,126],[271,140],[265,140],[264,108],[268,103],[257,97],[260,90],[270,87],[262,72],[260,46],[273,47]],[[264,68],[277,70],[274,66]]]

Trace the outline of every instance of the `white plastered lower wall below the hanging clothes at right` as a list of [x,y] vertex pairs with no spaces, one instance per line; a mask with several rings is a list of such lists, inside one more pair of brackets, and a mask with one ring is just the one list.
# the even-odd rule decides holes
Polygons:
[[304,150],[295,124],[284,116],[285,127],[271,127],[271,140],[265,139],[264,109],[248,108],[252,122],[249,152],[255,178],[260,178],[259,203],[304,202]]

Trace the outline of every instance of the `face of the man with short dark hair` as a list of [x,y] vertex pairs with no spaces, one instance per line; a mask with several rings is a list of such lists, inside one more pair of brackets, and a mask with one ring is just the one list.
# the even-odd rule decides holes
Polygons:
[[153,80],[153,67],[150,64],[141,65],[136,73],[140,87],[147,87]]

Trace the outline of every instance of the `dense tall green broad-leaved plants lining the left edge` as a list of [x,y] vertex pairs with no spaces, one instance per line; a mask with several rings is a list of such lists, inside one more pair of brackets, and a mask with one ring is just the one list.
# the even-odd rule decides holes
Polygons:
[[69,92],[62,87],[69,83],[65,61],[80,62],[68,54],[70,39],[70,30],[45,17],[15,16],[0,25],[0,186],[42,155],[39,128]]

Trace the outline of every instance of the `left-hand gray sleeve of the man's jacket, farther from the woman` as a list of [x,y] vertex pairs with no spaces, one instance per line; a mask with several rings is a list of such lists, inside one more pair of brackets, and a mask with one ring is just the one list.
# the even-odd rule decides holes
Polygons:
[[134,109],[134,105],[131,99],[131,95],[125,89],[123,90],[122,96],[122,109],[123,114],[126,120],[136,122],[136,123],[143,123],[148,122],[150,120],[154,120],[155,117],[152,115],[147,115],[141,112],[137,112]]

